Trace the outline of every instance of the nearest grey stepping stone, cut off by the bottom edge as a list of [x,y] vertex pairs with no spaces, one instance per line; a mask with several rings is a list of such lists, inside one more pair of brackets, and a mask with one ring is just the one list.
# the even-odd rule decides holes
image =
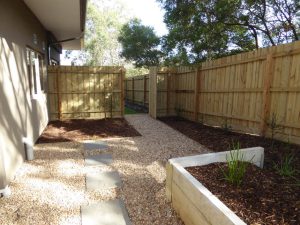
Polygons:
[[122,200],[110,200],[81,207],[82,225],[131,225]]

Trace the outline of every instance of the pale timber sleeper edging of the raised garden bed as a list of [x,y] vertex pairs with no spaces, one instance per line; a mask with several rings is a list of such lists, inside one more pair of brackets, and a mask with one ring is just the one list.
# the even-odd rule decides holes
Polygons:
[[[263,167],[264,149],[241,149],[244,161]],[[167,163],[166,195],[173,208],[186,225],[246,225],[233,211],[221,202],[209,189],[195,179],[188,167],[226,162],[230,152],[208,153],[170,159]]]

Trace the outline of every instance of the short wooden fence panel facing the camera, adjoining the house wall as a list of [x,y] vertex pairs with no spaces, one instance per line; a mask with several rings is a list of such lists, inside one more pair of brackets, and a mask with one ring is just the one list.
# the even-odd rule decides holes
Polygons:
[[124,75],[124,67],[49,66],[49,119],[123,117]]

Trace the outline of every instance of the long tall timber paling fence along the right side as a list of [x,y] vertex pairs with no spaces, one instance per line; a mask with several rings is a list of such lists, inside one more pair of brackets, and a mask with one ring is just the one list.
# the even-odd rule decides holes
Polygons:
[[[196,67],[151,68],[149,113],[300,143],[300,41]],[[152,107],[152,109],[151,109]]]

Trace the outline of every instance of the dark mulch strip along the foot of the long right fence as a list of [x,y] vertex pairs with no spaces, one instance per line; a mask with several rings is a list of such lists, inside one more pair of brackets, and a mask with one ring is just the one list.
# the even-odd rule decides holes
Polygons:
[[263,147],[265,149],[264,167],[267,169],[273,169],[274,163],[280,162],[284,155],[292,154],[294,155],[294,164],[300,170],[299,145],[275,141],[272,149],[272,140],[269,138],[231,132],[179,117],[163,117],[160,120],[214,152],[231,150],[233,142],[239,142],[241,148]]

